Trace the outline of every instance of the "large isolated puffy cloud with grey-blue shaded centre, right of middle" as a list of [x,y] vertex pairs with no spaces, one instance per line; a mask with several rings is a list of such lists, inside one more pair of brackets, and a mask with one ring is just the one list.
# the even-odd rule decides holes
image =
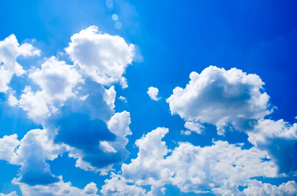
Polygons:
[[240,130],[252,128],[254,121],[272,112],[269,96],[260,91],[264,82],[257,75],[209,66],[201,74],[192,72],[190,79],[166,99],[171,114],[214,124],[218,134],[224,134],[228,124]]

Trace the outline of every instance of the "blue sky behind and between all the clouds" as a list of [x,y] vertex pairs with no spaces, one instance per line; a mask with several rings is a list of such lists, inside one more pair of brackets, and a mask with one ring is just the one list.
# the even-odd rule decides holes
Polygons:
[[[91,25],[97,26],[102,33],[119,35],[127,43],[137,45],[137,58],[124,75],[129,87],[122,89],[119,84],[113,84],[115,112],[128,111],[131,117],[133,134],[127,136],[129,156],[124,163],[129,164],[132,158],[138,157],[135,141],[156,127],[169,128],[163,138],[169,149],[177,147],[178,142],[211,146],[213,139],[230,144],[245,143],[243,149],[253,146],[247,141],[246,133],[227,131],[220,136],[213,124],[205,124],[202,134],[180,134],[180,130],[185,129],[185,121],[179,115],[171,115],[166,99],[175,87],[186,87],[191,72],[201,73],[210,65],[258,75],[265,82],[262,91],[267,92],[271,106],[276,107],[266,118],[284,119],[289,123],[297,121],[296,0],[114,0],[112,8],[106,7],[104,0],[2,0],[0,7],[0,40],[11,34],[20,44],[36,39],[33,45],[42,51],[40,57],[17,58],[25,70],[39,67],[45,57],[65,53],[70,37]],[[111,18],[114,13],[122,23],[121,29],[114,26]],[[73,64],[67,54],[59,58]],[[9,86],[20,96],[28,81],[27,77],[13,76]],[[149,86],[158,88],[159,101],[149,98]],[[31,84],[31,87],[38,86]],[[118,99],[120,95],[126,97],[128,103]],[[42,129],[42,125],[27,118],[21,108],[7,104],[7,93],[0,92],[0,99],[0,138],[16,133],[21,140],[28,131]],[[65,134],[67,137],[69,133]],[[63,176],[64,182],[70,181],[79,189],[94,182],[100,191],[104,180],[109,178],[109,175],[76,167],[75,159],[68,157],[67,152],[46,162],[53,175]],[[114,172],[121,171],[121,164],[115,164],[113,168]],[[0,160],[0,193],[16,191],[22,196],[19,186],[11,183],[19,170],[20,165]],[[297,180],[290,176],[253,179],[277,186]],[[144,188],[150,190],[150,186]],[[171,184],[165,188],[168,196],[213,195],[182,193]]]

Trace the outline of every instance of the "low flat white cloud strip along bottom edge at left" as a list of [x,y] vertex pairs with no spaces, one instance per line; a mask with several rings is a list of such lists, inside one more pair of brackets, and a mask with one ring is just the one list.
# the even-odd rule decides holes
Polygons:
[[19,185],[23,196],[98,196],[95,183],[88,184],[83,190],[73,187],[70,182],[59,181],[49,185],[30,186],[13,179],[13,184]]

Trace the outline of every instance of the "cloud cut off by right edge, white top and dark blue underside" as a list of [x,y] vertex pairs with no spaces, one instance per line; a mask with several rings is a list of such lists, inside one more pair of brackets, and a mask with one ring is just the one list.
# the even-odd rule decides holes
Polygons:
[[268,152],[280,173],[296,172],[297,123],[292,125],[283,119],[260,119],[247,135],[251,144]]

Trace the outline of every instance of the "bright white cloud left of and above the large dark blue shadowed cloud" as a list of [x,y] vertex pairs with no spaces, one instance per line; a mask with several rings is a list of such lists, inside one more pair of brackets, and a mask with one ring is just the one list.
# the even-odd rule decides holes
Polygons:
[[[51,114],[56,114],[57,108],[69,97],[75,97],[74,87],[79,82],[84,82],[73,66],[53,56],[41,65],[41,69],[30,70],[29,78],[38,84],[41,90],[34,92],[30,86],[26,86],[19,106],[27,112],[28,118],[38,124]],[[86,98],[80,97],[81,100]]]

